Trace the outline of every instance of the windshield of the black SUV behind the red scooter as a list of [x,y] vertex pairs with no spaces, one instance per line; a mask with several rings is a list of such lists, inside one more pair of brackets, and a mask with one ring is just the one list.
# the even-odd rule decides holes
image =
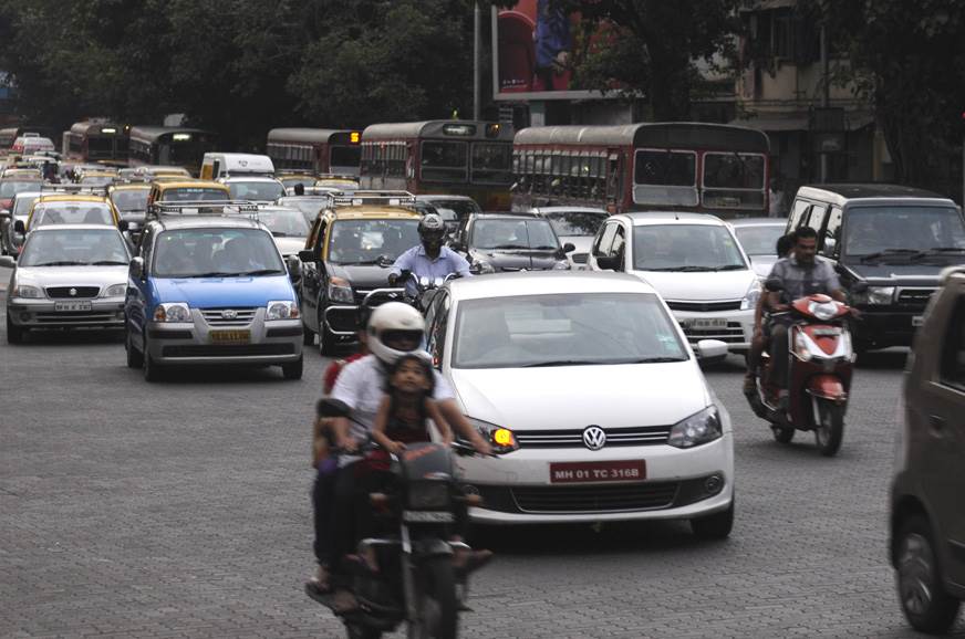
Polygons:
[[[965,226],[953,208],[915,206],[855,207],[844,224],[844,254],[870,255],[904,250],[952,249],[948,256],[962,260]],[[965,251],[963,251],[965,252]]]

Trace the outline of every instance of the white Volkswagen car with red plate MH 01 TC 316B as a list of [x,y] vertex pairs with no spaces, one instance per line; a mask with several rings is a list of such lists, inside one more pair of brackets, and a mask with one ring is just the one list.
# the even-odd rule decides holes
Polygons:
[[[480,431],[519,449],[460,458],[488,524],[734,520],[730,419],[666,305],[637,277],[588,272],[455,280],[426,314],[427,345]],[[722,356],[720,342],[698,350]]]

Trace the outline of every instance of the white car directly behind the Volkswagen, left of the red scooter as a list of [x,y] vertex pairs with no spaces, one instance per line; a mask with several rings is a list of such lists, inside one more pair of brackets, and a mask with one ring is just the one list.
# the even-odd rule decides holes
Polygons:
[[703,213],[613,216],[596,232],[591,271],[623,271],[653,286],[691,344],[719,339],[746,352],[760,283],[730,228]]

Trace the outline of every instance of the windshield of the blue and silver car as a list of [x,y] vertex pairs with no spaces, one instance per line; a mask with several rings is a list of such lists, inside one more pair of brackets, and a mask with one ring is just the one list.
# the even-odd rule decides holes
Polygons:
[[281,275],[284,264],[271,235],[261,229],[172,229],[154,245],[158,277]]

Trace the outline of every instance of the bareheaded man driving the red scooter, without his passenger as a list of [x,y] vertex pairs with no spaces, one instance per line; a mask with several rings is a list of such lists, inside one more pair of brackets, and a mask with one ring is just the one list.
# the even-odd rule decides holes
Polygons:
[[[795,245],[789,258],[778,260],[771,269],[768,281],[778,280],[780,291],[767,294],[767,306],[770,310],[770,354],[772,356],[770,383],[778,389],[778,404],[787,405],[788,385],[788,326],[787,315],[775,316],[790,310],[790,303],[800,297],[823,293],[839,302],[845,302],[847,296],[841,290],[841,283],[834,273],[834,268],[823,258],[816,255],[818,233],[802,227],[795,232]],[[852,313],[854,313],[852,311]]]

